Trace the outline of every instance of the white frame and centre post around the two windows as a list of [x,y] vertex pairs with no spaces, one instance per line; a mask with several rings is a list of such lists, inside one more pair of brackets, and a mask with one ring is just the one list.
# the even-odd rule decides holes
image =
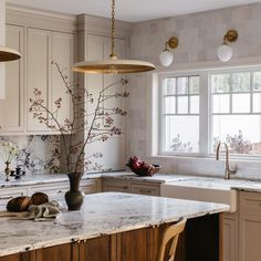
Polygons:
[[[180,72],[161,72],[158,73],[158,127],[157,127],[157,156],[170,156],[170,157],[198,157],[198,158],[213,158],[215,153],[212,153],[212,90],[211,90],[211,75],[212,74],[225,74],[225,73],[240,73],[240,72],[261,72],[261,65],[246,65],[240,67],[225,67],[225,69],[207,69],[207,70],[188,70]],[[164,125],[164,79],[166,77],[189,77],[189,76],[199,76],[199,152],[198,153],[181,153],[181,152],[164,152],[163,140],[165,136],[163,136],[163,132],[165,130],[161,126]],[[253,85],[252,76],[250,76],[250,84]],[[231,91],[231,90],[230,90]],[[232,93],[232,92],[231,92]],[[250,93],[252,95],[253,87],[250,86]],[[258,93],[258,92],[255,92]],[[260,90],[261,93],[261,90]],[[253,115],[252,113],[252,97],[250,102],[250,112],[249,115]],[[239,113],[243,114],[243,113]],[[255,113],[260,114],[261,113]],[[233,115],[233,114],[228,114]],[[241,160],[261,160],[261,155],[240,155],[240,154],[231,154],[230,157],[232,159],[241,159]]]

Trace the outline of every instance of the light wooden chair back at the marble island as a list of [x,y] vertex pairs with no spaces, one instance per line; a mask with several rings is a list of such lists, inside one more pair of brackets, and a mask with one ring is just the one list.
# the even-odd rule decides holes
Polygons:
[[185,226],[186,226],[186,221],[187,220],[181,219],[177,223],[165,229],[164,234],[163,234],[163,241],[161,241],[159,252],[158,252],[157,261],[165,261],[164,255],[165,255],[166,246],[170,240],[171,240],[171,246],[170,246],[169,252],[168,252],[168,261],[174,261],[176,248],[177,248],[177,243],[178,243],[178,237],[184,231]]

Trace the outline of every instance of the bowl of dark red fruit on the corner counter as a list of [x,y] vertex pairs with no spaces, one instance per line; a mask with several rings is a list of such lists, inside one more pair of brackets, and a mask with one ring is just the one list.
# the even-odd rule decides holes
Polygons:
[[137,156],[130,157],[126,166],[138,176],[153,176],[161,168],[160,165],[149,164]]

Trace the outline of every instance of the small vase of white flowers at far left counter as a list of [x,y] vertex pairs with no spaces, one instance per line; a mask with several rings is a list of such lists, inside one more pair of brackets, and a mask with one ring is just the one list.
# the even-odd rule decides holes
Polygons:
[[1,147],[2,147],[1,156],[6,164],[6,168],[4,168],[6,181],[9,181],[9,176],[11,171],[10,164],[18,154],[18,146],[11,142],[2,142]]

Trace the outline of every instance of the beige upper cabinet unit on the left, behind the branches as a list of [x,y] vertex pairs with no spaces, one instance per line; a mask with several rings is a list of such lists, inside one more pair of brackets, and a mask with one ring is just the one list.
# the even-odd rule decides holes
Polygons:
[[[6,63],[6,98],[0,100],[0,135],[60,134],[48,128],[29,112],[34,90],[42,93],[44,106],[55,117],[71,118],[71,97],[59,70],[73,82],[75,18],[28,10],[7,10],[7,45],[18,50],[22,59]],[[8,113],[7,113],[8,112]]]

